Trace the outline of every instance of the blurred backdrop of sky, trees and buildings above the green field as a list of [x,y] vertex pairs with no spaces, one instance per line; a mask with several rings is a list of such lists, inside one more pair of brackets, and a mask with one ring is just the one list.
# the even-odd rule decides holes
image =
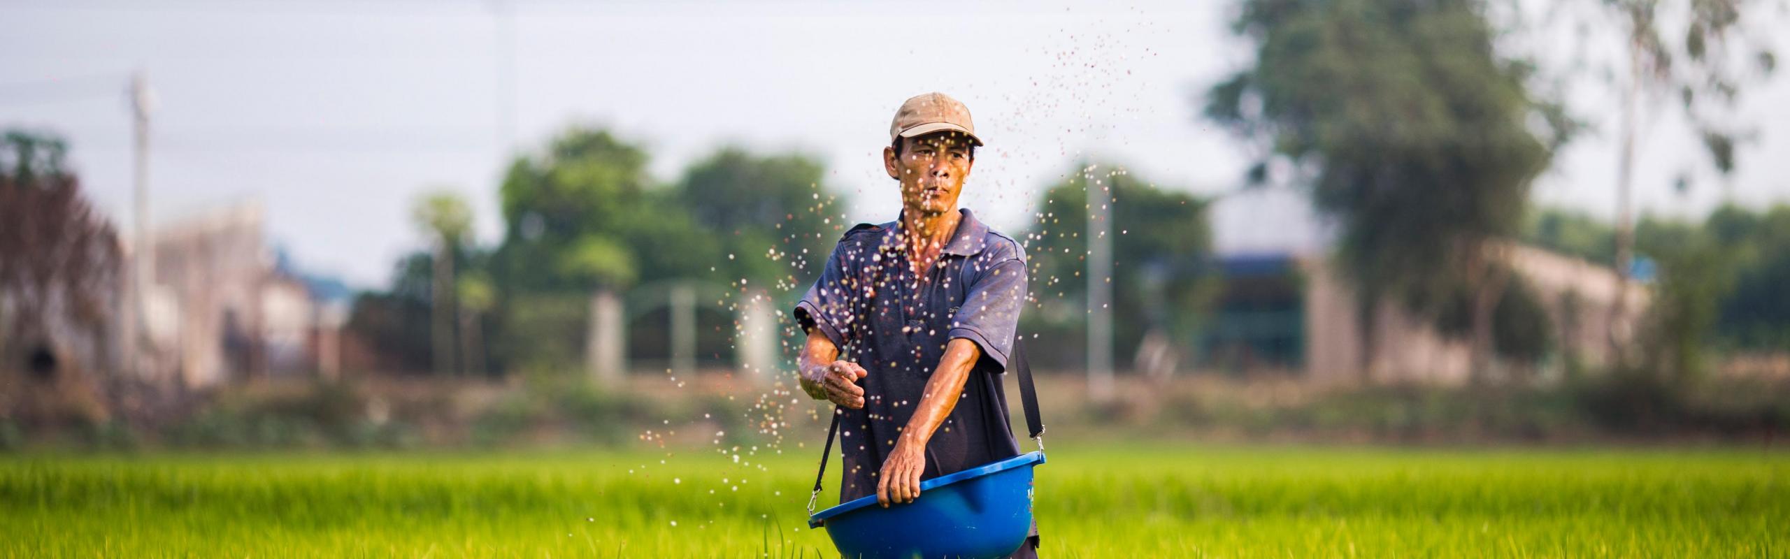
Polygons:
[[1790,426],[1779,0],[0,22],[5,450],[818,443],[788,310],[895,219],[888,120],[934,90],[1029,254],[1053,432]]

